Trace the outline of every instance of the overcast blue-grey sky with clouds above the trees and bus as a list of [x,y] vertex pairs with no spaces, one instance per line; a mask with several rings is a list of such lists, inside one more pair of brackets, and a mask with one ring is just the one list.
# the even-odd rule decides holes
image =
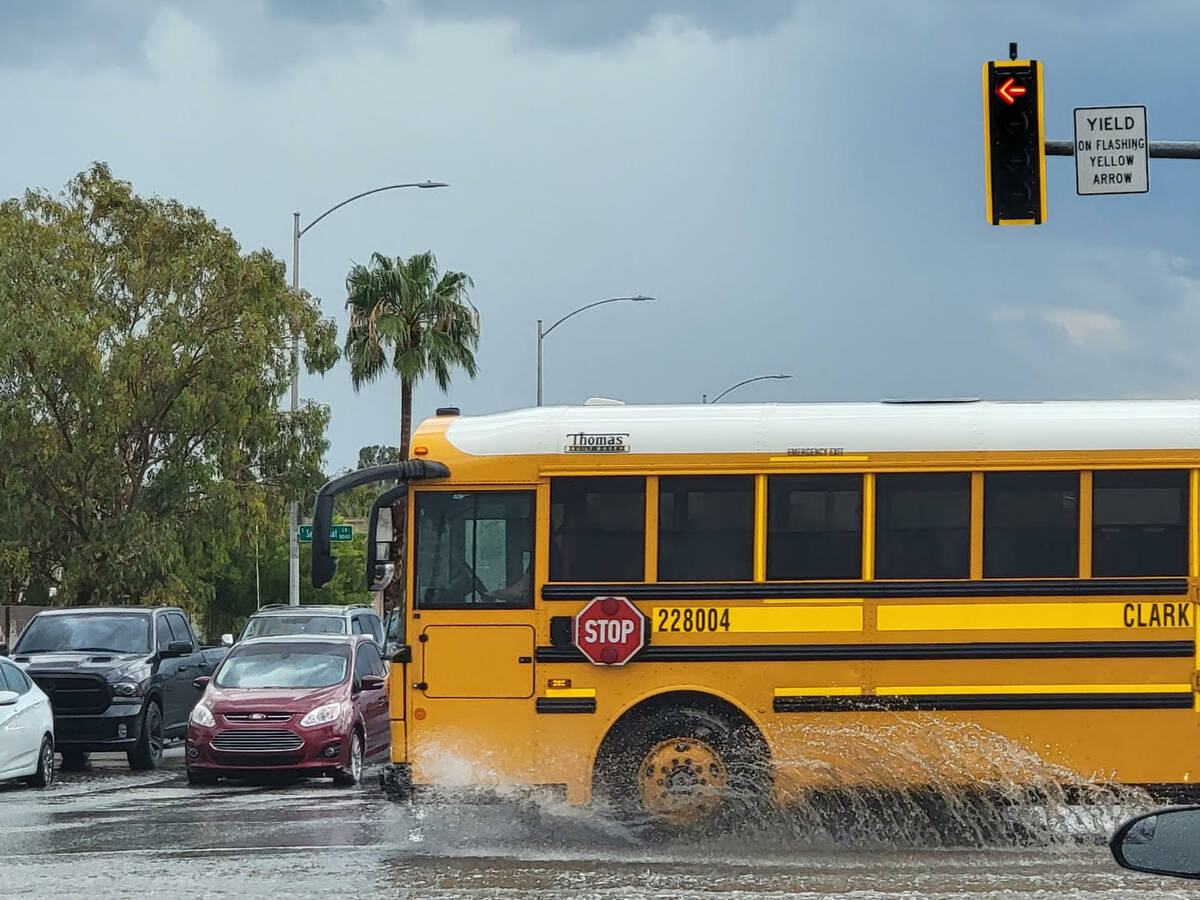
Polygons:
[[[479,377],[416,418],[547,403],[1200,396],[1200,162],[1148,194],[984,218],[980,66],[1045,66],[1046,127],[1145,104],[1200,140],[1190,0],[5,0],[0,196],[94,160],[290,265],[344,329],[372,251],[475,281]],[[301,379],[330,469],[395,443],[392,380]]]

